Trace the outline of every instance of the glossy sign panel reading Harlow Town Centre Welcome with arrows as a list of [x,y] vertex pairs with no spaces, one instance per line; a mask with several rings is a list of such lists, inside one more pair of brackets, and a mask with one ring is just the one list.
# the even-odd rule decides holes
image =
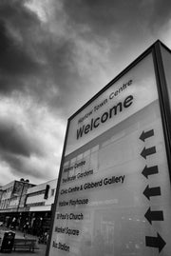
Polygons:
[[169,256],[171,196],[152,55],[70,120],[49,255]]

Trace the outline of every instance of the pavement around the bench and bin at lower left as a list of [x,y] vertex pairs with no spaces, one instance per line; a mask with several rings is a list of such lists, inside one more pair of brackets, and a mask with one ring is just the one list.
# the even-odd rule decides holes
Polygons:
[[[9,231],[8,229],[1,229],[0,228],[0,232],[1,231]],[[15,237],[16,238],[23,238],[24,234],[21,231],[18,230],[12,230],[15,232]],[[27,238],[33,238],[36,239],[38,241],[38,237],[37,236],[32,236],[27,234],[25,237]],[[11,255],[11,256],[45,256],[46,255],[46,250],[47,250],[47,245],[42,245],[42,244],[38,244],[36,245],[37,247],[39,247],[38,249],[35,249],[34,252],[30,252],[27,249],[26,250],[22,250],[22,249],[16,249],[15,251],[11,251],[11,252],[0,252],[0,256],[7,256],[7,255]]]

